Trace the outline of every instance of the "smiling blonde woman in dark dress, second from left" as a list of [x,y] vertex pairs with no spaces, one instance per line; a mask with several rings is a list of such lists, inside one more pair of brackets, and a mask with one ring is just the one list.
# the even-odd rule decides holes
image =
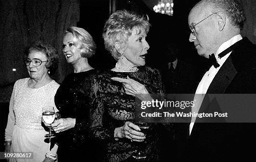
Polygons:
[[69,27],[63,38],[66,61],[74,73],[67,75],[55,95],[60,115],[51,126],[57,133],[58,162],[80,162],[89,155],[89,89],[97,74],[87,58],[95,53],[96,45],[90,34],[79,27]]

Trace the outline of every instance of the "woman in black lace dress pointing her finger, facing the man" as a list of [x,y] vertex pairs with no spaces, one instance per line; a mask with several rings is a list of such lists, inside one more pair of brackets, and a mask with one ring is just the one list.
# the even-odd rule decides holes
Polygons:
[[106,162],[135,161],[132,155],[143,143],[145,161],[159,158],[156,129],[145,137],[134,124],[135,94],[163,94],[158,70],[144,66],[149,27],[147,17],[127,11],[113,13],[104,26],[105,48],[117,62],[115,68],[93,79],[89,135],[105,148]]

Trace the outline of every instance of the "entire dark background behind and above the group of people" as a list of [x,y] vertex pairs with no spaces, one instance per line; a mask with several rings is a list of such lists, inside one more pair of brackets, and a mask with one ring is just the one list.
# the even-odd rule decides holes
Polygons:
[[[22,62],[25,47],[35,40],[55,46],[61,55],[59,69],[53,79],[61,83],[73,71],[62,55],[62,37],[68,26],[85,28],[97,44],[97,52],[90,63],[99,69],[110,69],[114,59],[104,50],[102,28],[109,14],[127,9],[150,16],[152,27],[147,41],[150,45],[147,64],[158,67],[165,62],[166,42],[179,44],[179,57],[196,65],[198,75],[205,67],[205,59],[197,55],[189,43],[187,16],[199,0],[174,0],[174,15],[154,13],[158,0],[0,0],[0,149],[8,115],[8,102],[16,80],[28,77]],[[256,44],[256,1],[241,0],[246,14],[242,31]],[[16,71],[13,71],[13,68]],[[1,151],[0,150],[0,151]]]

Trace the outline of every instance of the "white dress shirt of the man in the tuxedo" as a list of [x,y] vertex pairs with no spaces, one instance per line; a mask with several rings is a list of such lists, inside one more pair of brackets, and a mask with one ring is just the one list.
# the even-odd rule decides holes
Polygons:
[[[205,73],[205,75],[203,76],[202,80],[200,81],[194,96],[194,100],[195,100],[195,106],[192,107],[191,112],[195,112],[198,113],[200,106],[203,102],[203,99],[205,97],[205,93],[207,92],[210,84],[212,83],[215,75],[218,73],[218,70],[221,68],[221,66],[223,65],[223,63],[227,60],[227,58],[230,56],[229,52],[228,54],[226,54],[225,56],[223,56],[221,59],[218,58],[218,54],[221,53],[222,51],[226,50],[227,48],[229,48],[230,46],[232,46],[233,44],[235,44],[237,41],[243,39],[243,37],[239,34],[236,35],[234,37],[232,37],[230,40],[224,42],[222,45],[219,46],[217,52],[215,53],[215,58],[219,64],[218,68],[215,68],[213,65],[210,67],[210,69]],[[192,128],[194,125],[196,117],[192,117],[191,119],[191,123],[190,123],[190,128],[189,128],[189,133],[191,134],[192,132]]]

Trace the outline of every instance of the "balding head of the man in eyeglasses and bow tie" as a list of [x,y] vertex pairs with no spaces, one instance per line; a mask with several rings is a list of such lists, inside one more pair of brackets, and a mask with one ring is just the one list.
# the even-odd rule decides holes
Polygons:
[[244,19],[242,6],[236,0],[201,0],[189,14],[189,40],[199,55],[208,58],[222,43],[240,34]]

